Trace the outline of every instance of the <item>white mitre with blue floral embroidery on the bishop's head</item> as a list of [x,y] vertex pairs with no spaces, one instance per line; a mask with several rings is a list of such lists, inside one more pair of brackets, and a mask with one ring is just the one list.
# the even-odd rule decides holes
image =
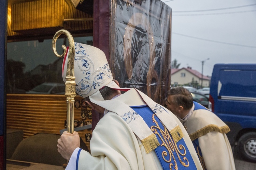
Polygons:
[[[64,82],[66,82],[67,64],[68,52],[62,64],[62,78]],[[119,88],[112,81],[113,76],[104,52],[90,45],[75,43],[74,76],[76,93],[83,98],[95,94],[104,86]],[[102,101],[103,98],[100,93],[97,92],[96,94],[97,100]]]

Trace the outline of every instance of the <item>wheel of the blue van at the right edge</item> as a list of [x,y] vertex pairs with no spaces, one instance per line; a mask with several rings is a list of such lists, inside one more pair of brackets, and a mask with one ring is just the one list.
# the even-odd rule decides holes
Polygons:
[[242,135],[238,141],[238,150],[244,159],[256,163],[256,132]]

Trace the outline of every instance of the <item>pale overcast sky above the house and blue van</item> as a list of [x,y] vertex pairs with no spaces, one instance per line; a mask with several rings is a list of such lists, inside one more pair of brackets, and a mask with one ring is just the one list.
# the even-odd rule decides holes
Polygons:
[[[172,61],[211,76],[217,63],[256,63],[256,0],[162,0],[172,8]],[[207,60],[207,58],[210,58]]]

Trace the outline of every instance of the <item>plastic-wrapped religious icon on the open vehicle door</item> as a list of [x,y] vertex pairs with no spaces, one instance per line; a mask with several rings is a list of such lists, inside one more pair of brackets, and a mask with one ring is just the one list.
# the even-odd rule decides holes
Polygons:
[[[117,4],[122,2],[117,0]],[[110,44],[116,49],[110,50],[110,61],[118,63],[111,72],[119,78],[120,87],[137,88],[158,103],[166,93],[161,86],[171,83],[171,10],[162,8],[165,15],[155,15],[160,8],[154,7],[148,14],[143,12],[144,5],[134,3],[125,8],[115,6],[110,19]],[[161,29],[155,29],[159,24]]]

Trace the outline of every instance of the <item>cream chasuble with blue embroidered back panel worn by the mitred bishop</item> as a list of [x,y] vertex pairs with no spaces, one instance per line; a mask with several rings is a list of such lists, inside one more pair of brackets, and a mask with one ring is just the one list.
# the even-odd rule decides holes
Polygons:
[[[108,113],[93,131],[91,153],[82,150],[77,155],[76,169],[155,170],[163,169],[163,164],[168,165],[164,169],[202,169],[186,130],[165,107],[137,89],[102,103],[97,102]],[[149,113],[134,111],[141,112],[140,106],[150,108]],[[144,121],[147,114],[151,122]],[[164,150],[157,153],[158,148]]]

